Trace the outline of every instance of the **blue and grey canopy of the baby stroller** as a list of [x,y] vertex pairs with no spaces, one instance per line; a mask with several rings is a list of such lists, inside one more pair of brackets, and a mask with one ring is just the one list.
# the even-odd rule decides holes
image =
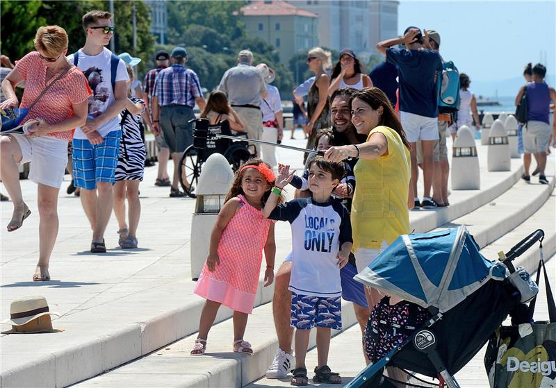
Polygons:
[[501,262],[486,260],[465,226],[401,235],[355,280],[420,305],[446,312],[488,280],[504,280]]

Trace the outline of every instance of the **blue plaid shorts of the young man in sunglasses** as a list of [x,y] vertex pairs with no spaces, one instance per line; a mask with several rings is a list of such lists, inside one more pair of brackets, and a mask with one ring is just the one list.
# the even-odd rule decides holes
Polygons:
[[74,139],[72,162],[74,185],[93,190],[98,182],[115,183],[117,157],[120,153],[121,130],[113,130],[104,137],[101,144],[91,144],[89,140]]

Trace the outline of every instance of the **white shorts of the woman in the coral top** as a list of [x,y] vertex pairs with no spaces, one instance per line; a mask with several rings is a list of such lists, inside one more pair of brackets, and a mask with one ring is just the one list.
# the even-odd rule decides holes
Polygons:
[[67,165],[67,142],[51,136],[28,137],[19,133],[10,136],[22,149],[19,165],[31,162],[29,179],[59,189]]

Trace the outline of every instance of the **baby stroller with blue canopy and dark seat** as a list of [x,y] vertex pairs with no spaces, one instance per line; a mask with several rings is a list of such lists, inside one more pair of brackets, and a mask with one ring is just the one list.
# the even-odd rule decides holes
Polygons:
[[516,272],[512,260],[543,236],[537,230],[496,262],[479,253],[465,226],[398,237],[355,278],[423,307],[430,318],[345,387],[439,386],[409,372],[407,382],[393,380],[383,376],[386,366],[459,387],[452,375],[480,351],[510,311],[536,294],[534,282],[523,269]]

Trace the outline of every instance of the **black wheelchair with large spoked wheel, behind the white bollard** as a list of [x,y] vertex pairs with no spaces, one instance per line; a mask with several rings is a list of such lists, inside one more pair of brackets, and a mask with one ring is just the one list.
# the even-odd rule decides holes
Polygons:
[[[230,124],[228,120],[222,120],[216,125],[209,125],[207,119],[193,119],[193,132],[198,130],[208,130],[213,134],[222,134],[232,136]],[[245,133],[234,134],[233,136],[241,138],[247,138]],[[195,140],[195,137],[194,137]],[[230,139],[220,139],[211,137],[206,140],[206,145],[202,144],[199,147],[198,144],[188,146],[183,154],[181,155],[181,160],[179,162],[179,182],[181,183],[181,188],[191,198],[195,198],[195,187],[197,186],[197,180],[201,175],[201,169],[203,163],[208,159],[213,153],[221,153],[224,155],[231,165],[231,169],[236,171],[243,162],[249,160],[252,157],[252,153],[249,151],[249,145],[247,142],[234,142]]]

